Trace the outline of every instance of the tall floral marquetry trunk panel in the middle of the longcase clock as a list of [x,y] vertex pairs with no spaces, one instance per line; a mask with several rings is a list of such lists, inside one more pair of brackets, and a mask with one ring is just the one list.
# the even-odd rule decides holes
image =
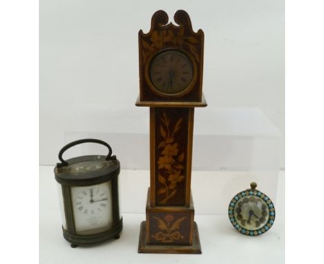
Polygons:
[[193,109],[154,108],[155,205],[188,205]]

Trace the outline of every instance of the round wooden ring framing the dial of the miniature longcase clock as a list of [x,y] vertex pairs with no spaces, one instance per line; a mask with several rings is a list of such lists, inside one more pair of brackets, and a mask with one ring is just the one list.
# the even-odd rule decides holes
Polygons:
[[[154,86],[154,84],[152,84],[151,78],[150,78],[150,66],[151,66],[151,63],[152,63],[153,59],[155,57],[157,57],[158,55],[160,55],[161,53],[165,53],[165,52],[168,52],[168,51],[171,51],[171,50],[182,53],[183,55],[188,57],[188,59],[190,59],[190,62],[192,64],[192,79],[191,79],[191,82],[190,82],[190,84],[188,85],[187,88],[183,89],[183,91],[180,91],[179,93],[163,93],[158,88],[156,88]],[[147,63],[145,64],[145,80],[146,80],[148,86],[150,87],[150,89],[154,93],[156,93],[156,95],[163,96],[163,97],[180,97],[180,96],[186,95],[187,93],[189,93],[192,90],[192,88],[195,87],[195,84],[196,84],[196,81],[197,81],[197,64],[195,62],[195,59],[192,57],[192,55],[187,53],[185,50],[182,50],[181,48],[163,48],[162,50],[158,50],[156,53],[152,54],[147,59]]]

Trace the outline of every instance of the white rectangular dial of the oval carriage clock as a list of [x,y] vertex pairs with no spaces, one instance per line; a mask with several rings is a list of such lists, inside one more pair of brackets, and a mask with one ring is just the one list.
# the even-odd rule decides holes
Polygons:
[[71,187],[75,231],[96,234],[112,225],[111,182]]

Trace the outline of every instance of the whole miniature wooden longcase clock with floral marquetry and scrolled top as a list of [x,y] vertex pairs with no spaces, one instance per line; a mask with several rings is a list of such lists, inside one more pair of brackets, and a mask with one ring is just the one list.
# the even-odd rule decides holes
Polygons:
[[190,191],[195,107],[202,95],[204,32],[183,10],[168,23],[154,13],[150,32],[138,32],[140,93],[150,107],[150,188],[139,253],[201,254]]

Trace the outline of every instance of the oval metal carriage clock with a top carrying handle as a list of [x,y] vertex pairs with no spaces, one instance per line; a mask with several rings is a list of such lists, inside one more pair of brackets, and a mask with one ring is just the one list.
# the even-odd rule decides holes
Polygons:
[[[98,143],[109,149],[105,155],[84,155],[64,160],[67,149],[82,143]],[[71,247],[119,238],[123,229],[118,201],[120,162],[101,140],[77,140],[63,147],[54,173],[59,183],[62,230]]]

